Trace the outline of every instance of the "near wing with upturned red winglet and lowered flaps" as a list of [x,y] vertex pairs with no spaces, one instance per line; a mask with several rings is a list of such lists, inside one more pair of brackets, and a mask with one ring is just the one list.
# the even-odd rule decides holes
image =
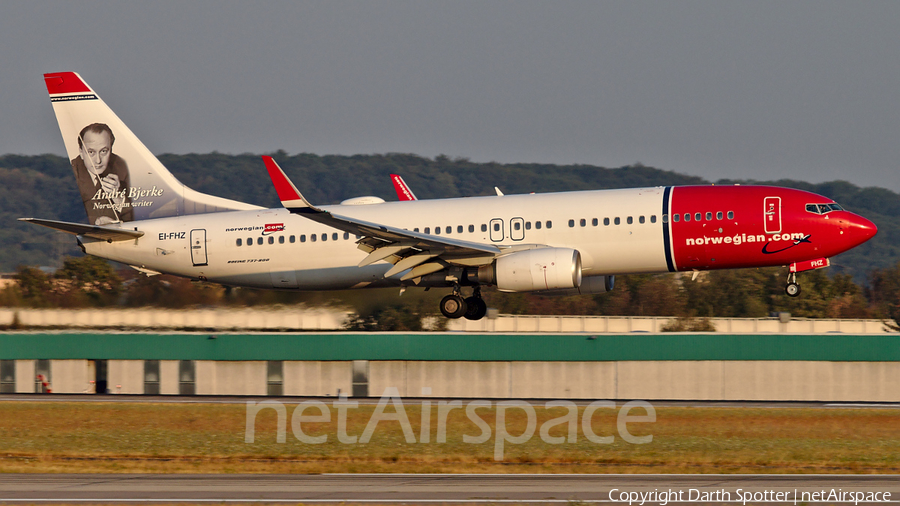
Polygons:
[[486,265],[497,255],[509,251],[508,248],[491,244],[412,232],[319,209],[300,194],[272,157],[264,156],[263,161],[278,198],[286,209],[323,225],[361,237],[357,244],[369,255],[359,263],[359,266],[363,267],[380,260],[394,264],[385,273],[385,277],[411,269],[401,278],[407,280],[438,272],[450,265]]

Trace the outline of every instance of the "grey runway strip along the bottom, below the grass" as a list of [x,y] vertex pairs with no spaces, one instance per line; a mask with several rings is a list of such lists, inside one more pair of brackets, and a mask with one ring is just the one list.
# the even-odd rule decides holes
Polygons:
[[[681,493],[666,502],[791,503],[804,492],[863,494],[896,503],[898,475],[0,475],[0,502],[628,503],[628,495]],[[703,496],[702,494],[708,495]],[[726,493],[728,494],[726,496]],[[781,493],[782,495],[778,495]],[[885,493],[890,493],[886,496]],[[626,495],[623,495],[626,494]],[[740,494],[740,495],[739,495]],[[755,495],[754,495],[755,494]],[[880,494],[880,495],[872,495]],[[640,502],[635,497],[635,504]],[[843,501],[819,501],[853,503]],[[874,502],[874,501],[859,501]],[[648,496],[644,504],[662,504]]]

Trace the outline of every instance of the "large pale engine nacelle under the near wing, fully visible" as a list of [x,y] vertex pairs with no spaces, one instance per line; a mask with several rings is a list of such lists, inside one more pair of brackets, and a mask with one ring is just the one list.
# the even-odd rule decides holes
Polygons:
[[501,292],[533,292],[581,286],[581,253],[570,248],[539,248],[502,256],[478,268],[478,280]]

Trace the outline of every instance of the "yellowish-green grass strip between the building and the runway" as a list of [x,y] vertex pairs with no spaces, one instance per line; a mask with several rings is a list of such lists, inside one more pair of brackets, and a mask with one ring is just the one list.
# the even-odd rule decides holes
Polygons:
[[[331,407],[330,402],[327,403]],[[436,403],[435,403],[436,404]],[[529,472],[529,473],[896,473],[900,471],[900,411],[826,408],[674,408],[656,410],[656,422],[629,424],[647,444],[617,434],[616,412],[601,409],[593,431],[614,435],[612,444],[588,441],[548,444],[541,425],[565,409],[536,406],[537,430],[521,445],[504,445],[494,460],[495,410],[479,409],[492,437],[481,444],[463,435],[481,430],[465,414],[448,417],[447,442],[435,442],[432,406],[430,443],[407,443],[400,424],[382,421],[367,444],[337,441],[336,409],[330,423],[304,423],[307,434],[327,435],[305,444],[291,432],[296,404],[287,404],[286,442],[276,441],[274,410],[256,418],[255,441],[244,442],[244,405],[39,403],[0,404],[0,472]],[[347,433],[360,435],[374,406],[350,409]],[[421,406],[405,411],[416,438]],[[388,409],[391,412],[391,409]],[[315,409],[306,415],[318,414]],[[638,409],[633,415],[643,414]],[[526,427],[524,412],[507,412],[508,432]],[[566,426],[550,431],[566,434]]]

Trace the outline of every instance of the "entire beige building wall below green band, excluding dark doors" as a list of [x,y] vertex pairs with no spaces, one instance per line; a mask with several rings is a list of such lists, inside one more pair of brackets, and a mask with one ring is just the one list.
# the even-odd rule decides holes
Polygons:
[[[266,395],[264,361],[195,365],[197,395]],[[89,390],[92,362],[52,360],[54,393]],[[287,396],[352,392],[352,362],[283,362]],[[900,402],[900,362],[618,361],[460,362],[372,361],[368,395],[397,388],[403,397]],[[160,361],[160,391],[179,393],[178,361]],[[34,392],[34,361],[16,362],[16,391]],[[112,392],[143,392],[143,363],[110,360]],[[116,385],[121,385],[117,388]]]

